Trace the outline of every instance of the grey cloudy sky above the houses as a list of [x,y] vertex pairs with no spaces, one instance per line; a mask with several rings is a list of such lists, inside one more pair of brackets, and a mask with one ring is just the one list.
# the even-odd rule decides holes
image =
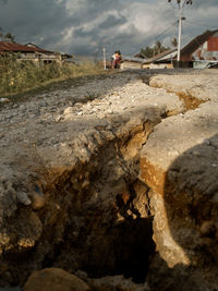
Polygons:
[[[184,0],[182,0],[184,1]],[[182,46],[218,28],[218,0],[193,0],[183,9]],[[0,27],[19,44],[74,54],[134,54],[178,35],[177,0],[0,0]]]

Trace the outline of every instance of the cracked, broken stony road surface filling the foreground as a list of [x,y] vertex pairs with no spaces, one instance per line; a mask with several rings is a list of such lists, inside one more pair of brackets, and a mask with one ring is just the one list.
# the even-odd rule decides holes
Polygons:
[[217,108],[217,70],[3,104],[2,289],[218,290]]

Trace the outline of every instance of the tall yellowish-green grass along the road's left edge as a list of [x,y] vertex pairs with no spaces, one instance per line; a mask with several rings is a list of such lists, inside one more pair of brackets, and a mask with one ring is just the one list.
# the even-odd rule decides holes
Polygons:
[[102,73],[102,68],[88,61],[74,63],[36,64],[17,60],[17,56],[0,57],[0,96],[36,89],[53,82]]

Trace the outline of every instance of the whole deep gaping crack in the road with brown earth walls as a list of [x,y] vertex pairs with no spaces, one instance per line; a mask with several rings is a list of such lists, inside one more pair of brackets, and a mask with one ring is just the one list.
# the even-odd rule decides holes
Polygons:
[[[35,211],[23,206],[10,219],[3,265],[12,284],[23,284],[33,269],[52,266],[72,274],[83,270],[90,278],[124,275],[145,281],[155,243],[148,187],[137,179],[138,151],[160,113],[147,109],[142,123],[124,124],[106,144],[109,133],[96,133],[93,141],[98,138],[100,146],[88,162],[78,159],[74,166],[44,171],[35,182]],[[40,205],[40,195],[46,204]],[[29,225],[21,230],[25,219]]]

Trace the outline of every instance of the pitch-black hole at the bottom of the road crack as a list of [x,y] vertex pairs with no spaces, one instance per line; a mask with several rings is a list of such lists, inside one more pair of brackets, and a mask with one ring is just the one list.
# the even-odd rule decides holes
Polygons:
[[136,283],[145,281],[149,258],[155,252],[153,219],[126,219],[112,227],[93,246],[83,269],[89,277],[123,275]]

